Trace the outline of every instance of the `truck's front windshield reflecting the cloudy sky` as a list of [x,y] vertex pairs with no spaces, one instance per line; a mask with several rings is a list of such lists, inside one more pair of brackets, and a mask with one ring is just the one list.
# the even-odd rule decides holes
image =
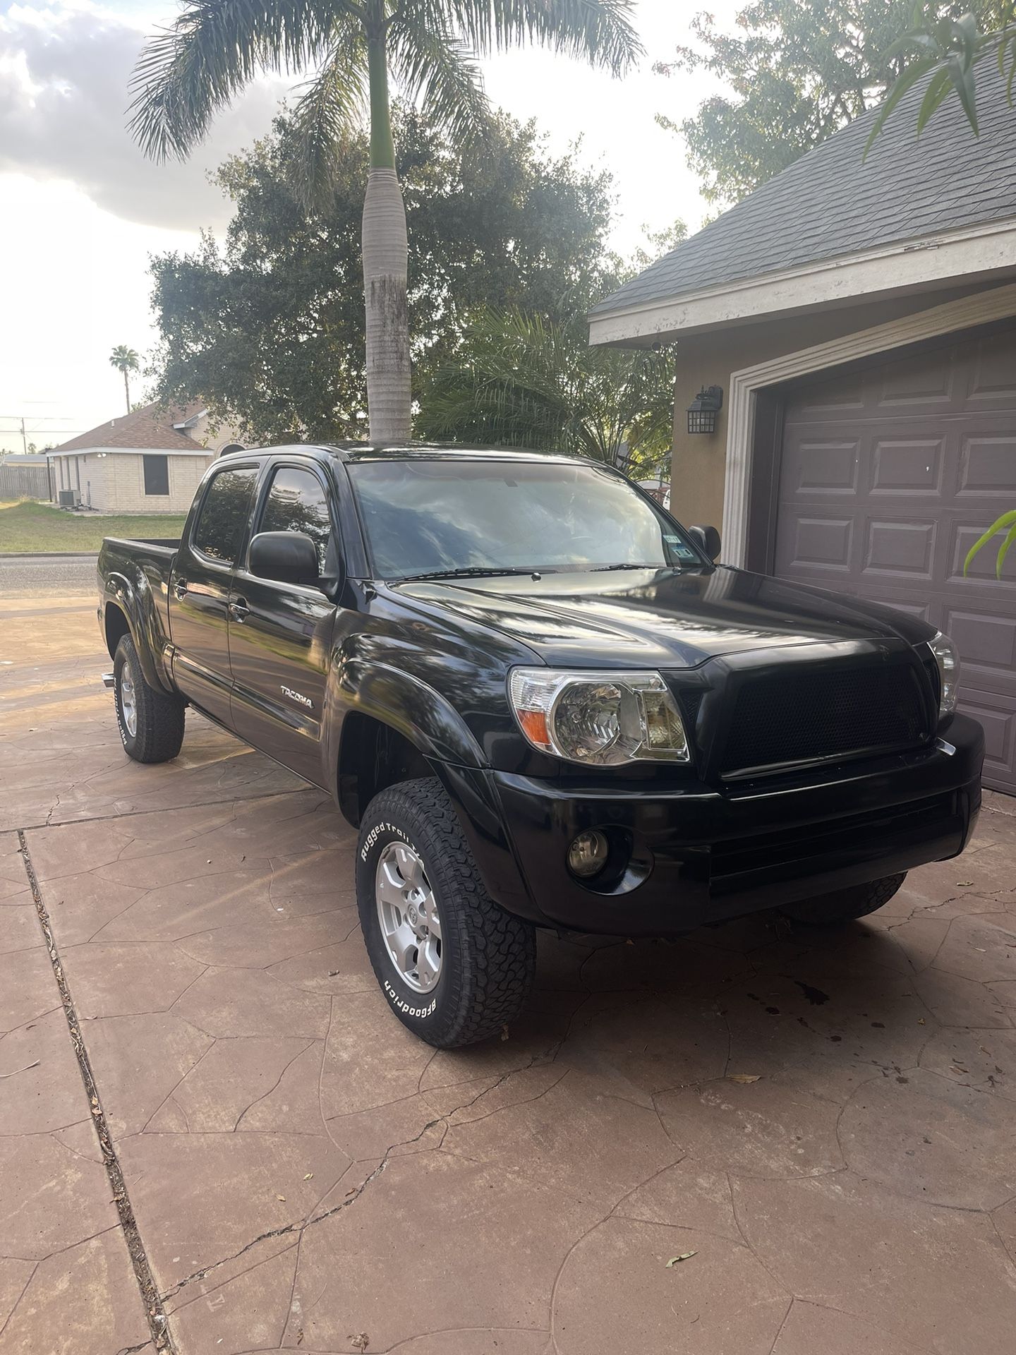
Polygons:
[[378,579],[702,564],[668,518],[595,462],[373,461],[350,476]]

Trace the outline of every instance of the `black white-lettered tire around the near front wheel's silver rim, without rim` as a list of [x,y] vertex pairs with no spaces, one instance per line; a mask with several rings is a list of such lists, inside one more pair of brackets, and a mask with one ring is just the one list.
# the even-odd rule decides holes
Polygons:
[[[404,982],[378,919],[378,862],[398,841],[423,860],[440,915],[440,972],[427,993]],[[356,902],[381,991],[420,1039],[436,1049],[458,1049],[499,1035],[519,1015],[536,967],[535,928],[488,894],[436,778],[401,782],[367,806],[356,851]]]

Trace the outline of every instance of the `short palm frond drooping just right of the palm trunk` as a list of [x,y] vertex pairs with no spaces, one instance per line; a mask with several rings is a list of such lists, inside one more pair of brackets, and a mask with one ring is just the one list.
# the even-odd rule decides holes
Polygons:
[[455,141],[465,144],[482,130],[490,106],[475,54],[440,16],[409,8],[397,12],[389,27],[389,56],[405,96],[420,100]]

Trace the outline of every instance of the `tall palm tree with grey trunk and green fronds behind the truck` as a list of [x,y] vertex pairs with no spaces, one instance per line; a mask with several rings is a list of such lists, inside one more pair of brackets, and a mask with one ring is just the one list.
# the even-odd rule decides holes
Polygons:
[[184,159],[217,110],[261,70],[316,69],[295,107],[294,171],[309,201],[328,191],[339,138],[364,111],[367,404],[377,442],[409,436],[405,207],[396,171],[389,69],[452,136],[488,117],[478,56],[536,42],[623,73],[641,53],[633,0],[186,0],[141,54],[130,130],[156,159]]

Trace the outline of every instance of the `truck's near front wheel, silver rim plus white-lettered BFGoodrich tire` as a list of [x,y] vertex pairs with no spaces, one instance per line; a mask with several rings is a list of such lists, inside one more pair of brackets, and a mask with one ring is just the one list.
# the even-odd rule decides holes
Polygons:
[[381,989],[420,1039],[457,1049],[519,1015],[536,967],[535,928],[488,894],[438,779],[391,786],[367,806],[356,902]]

